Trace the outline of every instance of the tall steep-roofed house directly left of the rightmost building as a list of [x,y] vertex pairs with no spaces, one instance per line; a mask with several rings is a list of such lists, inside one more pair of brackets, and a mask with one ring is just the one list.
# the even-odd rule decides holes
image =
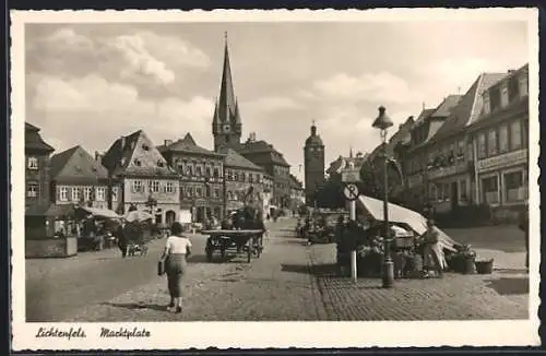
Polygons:
[[[434,211],[449,212],[472,202],[474,157],[467,127],[483,107],[482,94],[505,78],[506,73],[483,73],[472,84],[424,147],[429,203]],[[423,169],[425,161],[417,159]]]

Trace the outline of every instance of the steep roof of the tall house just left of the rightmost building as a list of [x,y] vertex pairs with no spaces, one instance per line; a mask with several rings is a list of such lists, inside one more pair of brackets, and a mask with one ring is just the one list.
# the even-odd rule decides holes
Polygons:
[[492,84],[505,78],[507,73],[482,73],[451,110],[446,122],[438,129],[429,142],[437,142],[461,132],[472,124],[482,111],[482,93]]

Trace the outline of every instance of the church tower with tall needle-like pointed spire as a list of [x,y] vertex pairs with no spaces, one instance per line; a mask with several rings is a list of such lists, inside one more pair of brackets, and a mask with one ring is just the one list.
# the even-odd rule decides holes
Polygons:
[[237,149],[240,145],[242,124],[239,115],[239,105],[235,97],[229,66],[229,51],[227,48],[227,33],[224,45],[224,68],[219,85],[219,97],[214,108],[212,134],[214,137],[214,151],[221,147]]

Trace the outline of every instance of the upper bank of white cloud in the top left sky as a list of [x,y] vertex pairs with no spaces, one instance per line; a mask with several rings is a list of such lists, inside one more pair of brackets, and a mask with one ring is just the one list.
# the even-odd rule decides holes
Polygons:
[[60,78],[97,74],[107,80],[161,88],[185,70],[205,69],[209,57],[189,41],[152,32],[84,36],[62,27],[28,40],[27,72]]

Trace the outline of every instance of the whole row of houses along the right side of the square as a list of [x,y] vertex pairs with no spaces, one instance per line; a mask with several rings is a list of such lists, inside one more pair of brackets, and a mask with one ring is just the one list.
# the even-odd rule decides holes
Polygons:
[[[449,212],[468,204],[517,210],[529,187],[529,64],[480,74],[464,95],[411,117],[388,144],[406,197]],[[381,159],[378,146],[368,159]]]

